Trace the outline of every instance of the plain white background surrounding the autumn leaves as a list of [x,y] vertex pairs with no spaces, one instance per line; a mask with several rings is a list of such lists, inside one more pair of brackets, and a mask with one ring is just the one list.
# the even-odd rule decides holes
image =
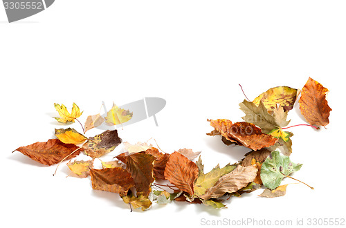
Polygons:
[[[295,225],[302,218],[345,218],[345,7],[345,1],[57,0],[8,23],[0,6],[1,227],[199,227],[201,219],[251,218]],[[76,102],[84,123],[102,101],[109,108],[163,97],[158,127],[148,118],[119,129],[120,137],[132,143],[153,137],[167,153],[202,151],[207,172],[249,151],[206,135],[212,131],[207,118],[242,120],[238,84],[253,99],[273,86],[302,88],[309,77],[329,89],[333,111],[327,130],[290,129],[291,160],[304,164],[294,177],[315,190],[291,184],[284,197],[258,198],[257,190],[231,198],[228,209],[173,202],[130,213],[117,194],[93,191],[89,178],[66,178],[66,162],[53,177],[56,165],[12,153],[64,127],[52,119],[54,102],[68,108]],[[297,104],[289,118],[290,125],[306,123]]]

